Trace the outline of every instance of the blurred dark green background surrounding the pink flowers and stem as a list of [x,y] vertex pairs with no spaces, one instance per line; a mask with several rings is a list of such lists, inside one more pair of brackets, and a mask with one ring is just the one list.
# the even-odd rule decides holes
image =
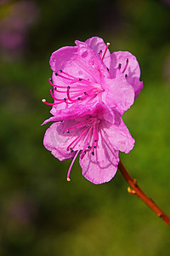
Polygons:
[[170,215],[170,1],[1,0],[0,255],[169,255],[169,227],[120,172],[94,185],[77,160],[67,183],[71,161],[43,148],[49,57],[92,36],[139,60],[144,90],[123,115],[136,143],[121,159]]

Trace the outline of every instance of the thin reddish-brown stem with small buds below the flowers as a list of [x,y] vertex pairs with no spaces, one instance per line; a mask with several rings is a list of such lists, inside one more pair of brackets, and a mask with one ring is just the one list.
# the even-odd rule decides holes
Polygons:
[[147,195],[144,194],[142,189],[139,188],[139,185],[137,184],[137,181],[133,179],[129,173],[127,172],[125,166],[123,166],[122,161],[120,160],[118,165],[119,171],[122,173],[122,176],[126,179],[127,183],[131,186],[132,189],[128,188],[128,192],[132,195],[138,195],[139,198],[144,201],[144,203],[150,207],[150,209],[154,212],[156,212],[156,215],[161,218],[167,225],[170,226],[170,218],[167,217],[167,215],[161,211],[159,207],[156,206],[156,203],[149,198]]

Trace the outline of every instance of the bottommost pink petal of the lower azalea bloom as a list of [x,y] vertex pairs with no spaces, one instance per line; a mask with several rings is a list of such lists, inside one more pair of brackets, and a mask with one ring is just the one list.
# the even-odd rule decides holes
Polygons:
[[91,151],[80,159],[82,175],[94,184],[109,182],[115,176],[119,162],[119,152],[111,147],[107,137],[99,132],[98,148],[94,155]]

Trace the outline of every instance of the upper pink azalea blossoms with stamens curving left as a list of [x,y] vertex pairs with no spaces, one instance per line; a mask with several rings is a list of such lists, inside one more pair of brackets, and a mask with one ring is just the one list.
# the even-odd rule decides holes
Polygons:
[[86,114],[96,102],[124,113],[143,88],[136,58],[128,52],[110,54],[102,38],[75,43],[52,54],[49,84],[54,103],[42,102],[53,106],[51,113],[58,120]]

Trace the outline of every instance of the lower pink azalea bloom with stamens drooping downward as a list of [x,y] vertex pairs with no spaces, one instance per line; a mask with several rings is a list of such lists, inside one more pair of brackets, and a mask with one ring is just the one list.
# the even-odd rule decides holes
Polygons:
[[[57,118],[56,118],[57,119]],[[128,153],[134,144],[127,126],[116,110],[97,103],[94,113],[54,122],[45,133],[43,144],[59,160],[73,158],[67,174],[80,154],[82,175],[95,184],[115,176],[119,150]]]

